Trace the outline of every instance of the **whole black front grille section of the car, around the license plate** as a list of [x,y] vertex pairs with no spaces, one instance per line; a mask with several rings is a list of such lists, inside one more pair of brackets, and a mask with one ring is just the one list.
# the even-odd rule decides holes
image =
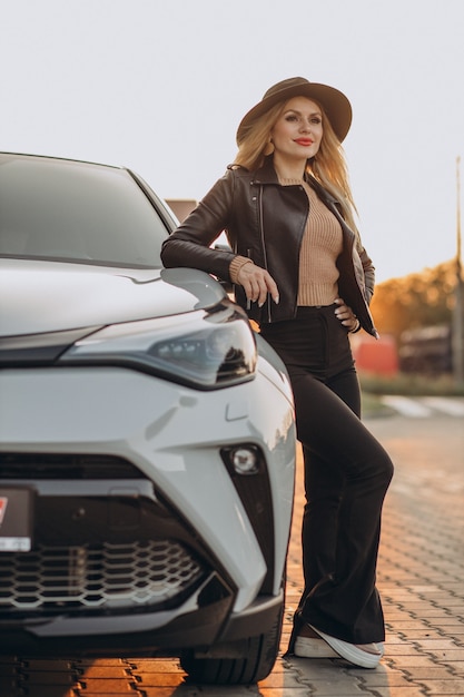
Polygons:
[[3,482],[37,491],[32,550],[0,552],[2,619],[165,610],[211,572],[182,517],[122,458],[0,453]]

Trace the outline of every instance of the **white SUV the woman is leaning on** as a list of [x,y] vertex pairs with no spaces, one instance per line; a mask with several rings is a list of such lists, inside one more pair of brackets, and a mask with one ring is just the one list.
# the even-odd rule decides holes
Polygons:
[[128,169],[0,154],[0,652],[275,662],[285,367]]

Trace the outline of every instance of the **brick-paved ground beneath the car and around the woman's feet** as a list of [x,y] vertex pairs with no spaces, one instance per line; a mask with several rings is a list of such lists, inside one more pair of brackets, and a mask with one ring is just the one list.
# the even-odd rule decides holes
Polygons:
[[[0,697],[464,696],[464,424],[446,416],[419,423],[393,416],[367,425],[396,468],[378,563],[387,637],[375,670],[342,659],[280,656],[266,680],[227,688],[189,685],[175,660],[6,658]],[[303,583],[300,460],[298,470],[282,654]]]

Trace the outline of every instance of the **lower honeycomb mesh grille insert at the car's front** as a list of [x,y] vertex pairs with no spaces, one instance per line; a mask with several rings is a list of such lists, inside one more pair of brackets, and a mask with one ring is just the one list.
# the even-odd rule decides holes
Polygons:
[[[105,611],[169,607],[205,569],[176,540],[39,546],[0,557],[0,612]],[[32,611],[32,612],[31,612]],[[3,615],[4,616],[4,615]]]

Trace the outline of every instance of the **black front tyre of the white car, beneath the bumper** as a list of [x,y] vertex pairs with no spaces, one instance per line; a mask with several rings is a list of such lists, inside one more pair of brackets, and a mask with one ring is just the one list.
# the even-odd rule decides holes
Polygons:
[[[266,634],[230,645],[233,658],[216,658],[186,651],[180,665],[190,680],[209,685],[250,685],[264,680],[276,662],[279,650],[284,603],[275,625]],[[215,655],[227,654],[227,647],[213,647]]]

